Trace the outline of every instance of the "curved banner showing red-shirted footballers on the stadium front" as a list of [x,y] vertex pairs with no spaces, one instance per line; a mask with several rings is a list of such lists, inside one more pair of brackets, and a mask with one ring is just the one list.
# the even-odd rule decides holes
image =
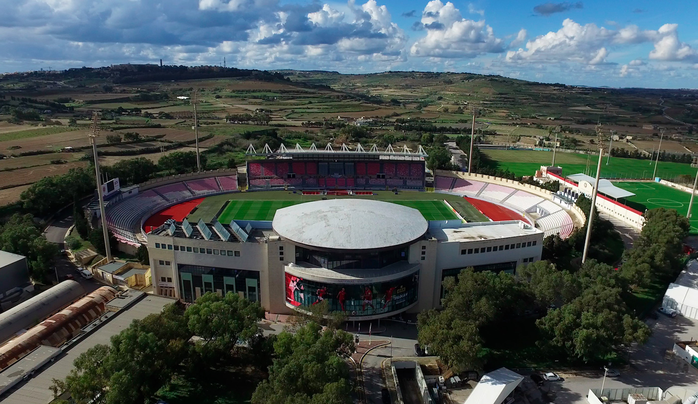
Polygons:
[[328,301],[329,310],[350,317],[380,315],[406,308],[417,301],[419,274],[366,284],[337,284],[304,279],[285,273],[286,304],[297,308]]

